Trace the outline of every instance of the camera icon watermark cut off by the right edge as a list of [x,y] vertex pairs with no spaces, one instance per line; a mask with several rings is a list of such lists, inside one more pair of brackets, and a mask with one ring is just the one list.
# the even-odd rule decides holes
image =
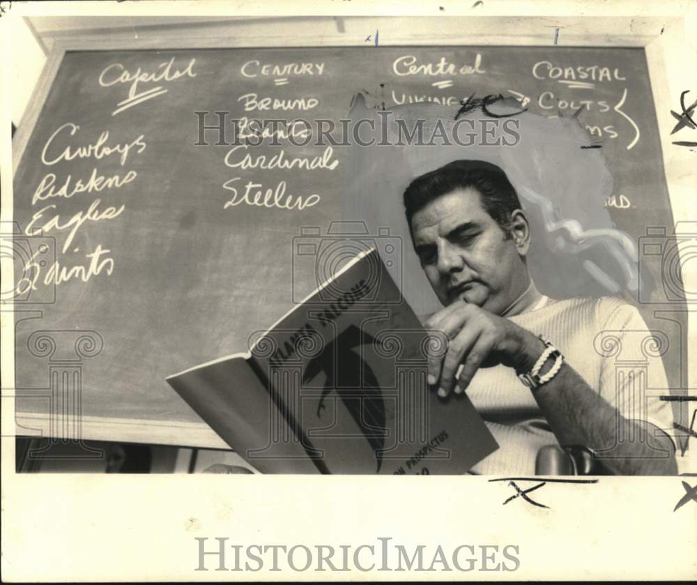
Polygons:
[[661,285],[654,294],[645,287],[638,287],[638,302],[643,304],[694,303],[697,289],[684,281],[688,274],[687,263],[697,257],[697,222],[677,222],[673,234],[666,227],[648,227],[646,235],[638,238],[640,261],[639,278],[642,271],[659,275]]

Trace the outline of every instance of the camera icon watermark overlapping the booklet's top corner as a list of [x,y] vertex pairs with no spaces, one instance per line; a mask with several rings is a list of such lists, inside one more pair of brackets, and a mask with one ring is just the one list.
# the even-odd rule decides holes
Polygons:
[[365,222],[334,221],[330,222],[323,234],[320,227],[301,227],[300,236],[293,236],[293,303],[307,300],[306,283],[311,282],[319,294],[314,303],[334,303],[337,298],[348,291],[340,290],[341,284],[333,280],[342,268],[359,254],[370,250],[368,254],[369,273],[366,279],[367,292],[362,296],[362,302],[374,302],[378,293],[384,293],[381,287],[383,268],[380,259],[391,273],[397,289],[390,289],[387,298],[381,298],[381,303],[401,303],[401,259],[402,241],[399,236],[390,235],[388,227],[381,227],[377,234],[370,234]]

